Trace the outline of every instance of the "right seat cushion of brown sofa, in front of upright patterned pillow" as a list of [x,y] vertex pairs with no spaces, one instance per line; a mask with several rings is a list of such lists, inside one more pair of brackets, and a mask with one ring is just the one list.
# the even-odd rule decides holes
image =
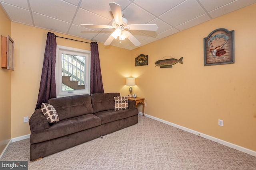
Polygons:
[[94,113],[94,115],[100,117],[101,124],[109,123],[112,121],[124,119],[138,114],[138,109],[126,109],[126,110],[106,110]]

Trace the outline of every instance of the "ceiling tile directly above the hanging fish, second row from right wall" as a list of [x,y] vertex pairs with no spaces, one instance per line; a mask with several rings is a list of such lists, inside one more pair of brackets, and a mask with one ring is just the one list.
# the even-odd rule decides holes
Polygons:
[[[192,6],[193,8],[188,8],[189,6]],[[159,18],[175,27],[202,14],[205,14],[205,11],[196,0],[187,0],[164,13]]]

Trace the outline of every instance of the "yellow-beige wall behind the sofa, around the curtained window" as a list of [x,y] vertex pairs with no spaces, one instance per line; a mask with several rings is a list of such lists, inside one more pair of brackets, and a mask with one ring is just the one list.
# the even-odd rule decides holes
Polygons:
[[[48,31],[12,22],[15,41],[15,71],[12,73],[12,138],[30,134],[23,117],[30,116],[36,107],[44,49]],[[77,37],[52,32],[57,36],[85,41]],[[90,43],[56,38],[57,45],[90,50]],[[88,41],[90,42],[90,41]],[[98,43],[104,92],[124,93],[125,77],[131,73],[131,51],[106,47]],[[122,54],[122,55],[120,55]]]

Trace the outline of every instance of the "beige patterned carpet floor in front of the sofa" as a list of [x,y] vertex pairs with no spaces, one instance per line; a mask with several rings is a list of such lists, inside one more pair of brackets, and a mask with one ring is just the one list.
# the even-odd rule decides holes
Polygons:
[[[64,142],[64,141],[63,141]],[[29,160],[29,139],[11,143],[1,160],[29,170],[256,170],[256,157],[139,115],[136,125]]]

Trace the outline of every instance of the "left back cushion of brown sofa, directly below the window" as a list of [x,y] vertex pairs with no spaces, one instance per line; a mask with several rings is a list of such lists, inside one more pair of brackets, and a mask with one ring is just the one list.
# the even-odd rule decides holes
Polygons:
[[59,116],[59,120],[93,113],[91,96],[89,94],[53,98],[48,100]]

